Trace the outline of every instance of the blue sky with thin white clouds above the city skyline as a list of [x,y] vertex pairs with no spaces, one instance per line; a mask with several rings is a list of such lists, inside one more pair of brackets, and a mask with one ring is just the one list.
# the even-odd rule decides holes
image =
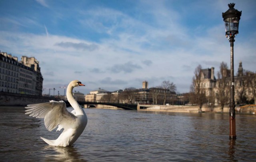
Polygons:
[[[166,80],[190,91],[195,68],[230,68],[222,12],[241,11],[234,72],[256,72],[255,0],[0,0],[0,50],[35,57],[43,94],[80,80],[88,94],[156,87]],[[53,90],[50,92],[53,94]]]

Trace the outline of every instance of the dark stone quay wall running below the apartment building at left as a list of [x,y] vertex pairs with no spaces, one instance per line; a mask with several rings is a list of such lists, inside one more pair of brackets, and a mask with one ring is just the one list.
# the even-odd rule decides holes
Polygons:
[[49,102],[50,100],[59,101],[60,99],[54,97],[0,92],[0,106],[26,106],[28,104]]

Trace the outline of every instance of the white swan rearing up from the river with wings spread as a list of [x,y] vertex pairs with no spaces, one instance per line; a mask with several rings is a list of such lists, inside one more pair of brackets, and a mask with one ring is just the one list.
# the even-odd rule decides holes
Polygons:
[[44,118],[44,125],[49,131],[52,131],[58,125],[57,130],[64,128],[63,132],[56,140],[47,140],[40,137],[51,146],[66,147],[72,145],[86,127],[87,116],[72,93],[73,88],[77,86],[84,86],[84,84],[78,80],[73,80],[68,84],[66,92],[68,102],[74,108],[72,113],[68,112],[64,101],[51,100],[50,102],[40,104],[29,104],[25,107],[27,108],[25,114],[36,118]]

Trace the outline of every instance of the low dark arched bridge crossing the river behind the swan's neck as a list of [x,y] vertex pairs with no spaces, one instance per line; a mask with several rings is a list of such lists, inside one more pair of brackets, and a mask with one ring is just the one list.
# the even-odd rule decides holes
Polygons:
[[[78,101],[80,105],[109,105],[116,106],[118,108],[122,108],[124,110],[137,110],[137,104],[122,104],[122,103],[111,103],[111,102],[85,102]],[[69,102],[66,102],[67,107],[70,106]]]

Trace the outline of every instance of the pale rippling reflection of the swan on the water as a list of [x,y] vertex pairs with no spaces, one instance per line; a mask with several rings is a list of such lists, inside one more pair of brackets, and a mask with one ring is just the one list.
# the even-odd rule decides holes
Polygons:
[[83,155],[78,152],[77,148],[72,146],[68,147],[56,147],[56,146],[45,146],[43,149],[45,152],[45,159],[43,161],[62,161],[62,162],[86,162],[83,159]]

